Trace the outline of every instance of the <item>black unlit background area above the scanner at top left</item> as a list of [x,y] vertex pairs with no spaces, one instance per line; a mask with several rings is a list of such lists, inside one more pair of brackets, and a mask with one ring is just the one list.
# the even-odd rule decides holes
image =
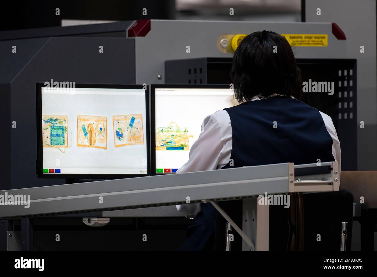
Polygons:
[[[60,15],[55,15],[55,9]],[[143,15],[143,8],[147,15]],[[175,19],[175,0],[2,1],[0,31],[61,26],[62,19]]]

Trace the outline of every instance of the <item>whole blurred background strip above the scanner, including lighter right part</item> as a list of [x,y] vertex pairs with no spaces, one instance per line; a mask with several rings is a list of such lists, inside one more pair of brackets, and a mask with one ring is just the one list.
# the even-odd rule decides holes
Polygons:
[[[0,31],[56,27],[61,20],[236,20],[299,22],[303,0],[28,0],[0,2]],[[55,15],[55,9],[60,15]],[[143,15],[143,8],[147,15]],[[229,16],[229,8],[234,15]],[[66,26],[66,25],[65,25]]]

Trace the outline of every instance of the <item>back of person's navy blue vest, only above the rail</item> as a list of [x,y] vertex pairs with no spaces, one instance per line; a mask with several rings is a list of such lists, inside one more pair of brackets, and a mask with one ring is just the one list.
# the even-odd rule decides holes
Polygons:
[[223,168],[334,161],[333,139],[322,116],[299,100],[273,97],[224,110],[230,117],[233,146]]

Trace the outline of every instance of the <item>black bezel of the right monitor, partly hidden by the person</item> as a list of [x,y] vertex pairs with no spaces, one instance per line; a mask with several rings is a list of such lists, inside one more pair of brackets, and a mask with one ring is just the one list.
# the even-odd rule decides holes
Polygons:
[[[156,89],[229,89],[230,84],[151,84],[150,85],[150,126],[151,126],[151,174],[153,176],[172,175],[175,173],[156,173],[156,122],[155,92]],[[203,118],[204,119],[204,118]]]

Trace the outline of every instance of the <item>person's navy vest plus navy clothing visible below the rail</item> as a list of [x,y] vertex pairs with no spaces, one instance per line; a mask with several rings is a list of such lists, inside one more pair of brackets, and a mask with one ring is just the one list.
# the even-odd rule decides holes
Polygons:
[[[312,164],[334,161],[333,139],[326,130],[319,111],[292,98],[273,97],[249,101],[227,111],[232,127],[230,161],[223,168],[250,165]],[[242,200],[218,203],[242,226]],[[189,227],[181,250],[220,250],[225,247],[225,219],[210,203]],[[241,248],[241,237],[232,248]]]

